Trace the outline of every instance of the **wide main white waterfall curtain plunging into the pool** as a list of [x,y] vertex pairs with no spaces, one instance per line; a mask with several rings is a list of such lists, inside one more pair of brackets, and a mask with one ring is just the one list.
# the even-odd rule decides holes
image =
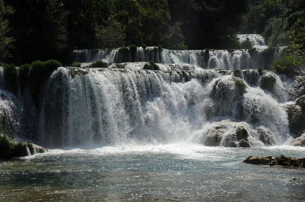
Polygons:
[[58,68],[41,103],[40,142],[49,147],[180,141],[212,146],[207,131],[224,127],[231,133],[216,144],[231,146],[238,145],[241,127],[251,146],[284,143],[288,120],[277,98],[257,89],[257,71],[237,73]]

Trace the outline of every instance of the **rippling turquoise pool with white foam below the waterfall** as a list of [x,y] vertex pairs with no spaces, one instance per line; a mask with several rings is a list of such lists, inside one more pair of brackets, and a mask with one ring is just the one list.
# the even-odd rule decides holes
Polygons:
[[303,201],[305,170],[242,163],[291,146],[198,144],[50,150],[0,162],[0,201]]

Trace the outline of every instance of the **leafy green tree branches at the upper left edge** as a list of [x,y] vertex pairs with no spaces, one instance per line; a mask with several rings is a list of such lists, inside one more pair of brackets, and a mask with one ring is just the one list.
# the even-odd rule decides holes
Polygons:
[[12,48],[14,39],[8,37],[7,33],[10,30],[7,15],[13,14],[12,7],[6,6],[3,0],[0,0],[0,61],[3,62],[9,56],[9,49]]

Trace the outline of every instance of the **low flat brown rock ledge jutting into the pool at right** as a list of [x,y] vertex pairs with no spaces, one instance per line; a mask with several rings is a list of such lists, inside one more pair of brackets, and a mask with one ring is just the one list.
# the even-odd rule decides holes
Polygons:
[[249,156],[243,162],[255,165],[280,166],[284,168],[305,168],[305,158],[293,158],[284,155],[276,158],[272,158],[272,156]]

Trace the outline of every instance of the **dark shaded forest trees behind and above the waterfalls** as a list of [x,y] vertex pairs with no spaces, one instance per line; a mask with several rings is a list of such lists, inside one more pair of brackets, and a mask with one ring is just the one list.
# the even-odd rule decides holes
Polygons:
[[303,16],[303,0],[0,0],[0,60],[67,63],[74,49],[129,45],[229,49],[238,33],[283,46]]

